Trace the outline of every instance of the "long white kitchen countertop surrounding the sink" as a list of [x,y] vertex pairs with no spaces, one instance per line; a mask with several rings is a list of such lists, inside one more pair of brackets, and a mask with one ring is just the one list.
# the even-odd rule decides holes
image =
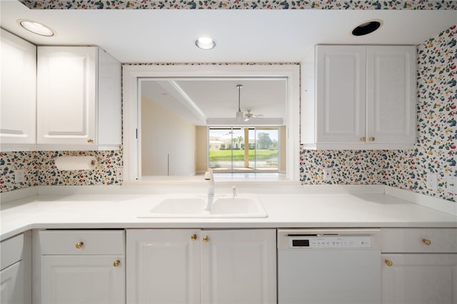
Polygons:
[[40,194],[1,204],[1,240],[34,228],[457,228],[453,214],[385,193],[257,195],[268,218],[137,218],[164,194]]

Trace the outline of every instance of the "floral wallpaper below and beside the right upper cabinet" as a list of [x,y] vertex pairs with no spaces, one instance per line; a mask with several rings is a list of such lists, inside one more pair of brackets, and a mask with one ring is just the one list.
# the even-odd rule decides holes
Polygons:
[[[446,191],[447,176],[457,176],[456,25],[418,46],[417,141],[407,151],[307,151],[300,156],[303,184],[386,184],[456,201]],[[330,181],[323,168],[332,168]],[[436,173],[438,190],[426,187]]]

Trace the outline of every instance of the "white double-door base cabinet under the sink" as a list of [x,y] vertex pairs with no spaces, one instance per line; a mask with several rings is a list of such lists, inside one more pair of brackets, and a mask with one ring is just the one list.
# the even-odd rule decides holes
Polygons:
[[276,303],[275,230],[127,230],[127,303]]

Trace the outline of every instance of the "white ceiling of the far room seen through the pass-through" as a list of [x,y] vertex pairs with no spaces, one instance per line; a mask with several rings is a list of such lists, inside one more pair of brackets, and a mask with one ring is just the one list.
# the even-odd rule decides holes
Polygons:
[[[239,96],[238,84],[243,86]],[[244,114],[249,110],[262,115],[241,124],[286,124],[286,78],[142,81],[141,93],[196,125],[238,124],[233,119],[238,111],[238,98]],[[271,123],[272,118],[278,122]]]

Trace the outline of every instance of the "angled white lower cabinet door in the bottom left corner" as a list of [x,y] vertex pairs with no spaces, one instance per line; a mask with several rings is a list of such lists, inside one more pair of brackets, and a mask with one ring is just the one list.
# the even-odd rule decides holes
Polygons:
[[0,271],[0,303],[26,303],[24,262],[19,261]]

